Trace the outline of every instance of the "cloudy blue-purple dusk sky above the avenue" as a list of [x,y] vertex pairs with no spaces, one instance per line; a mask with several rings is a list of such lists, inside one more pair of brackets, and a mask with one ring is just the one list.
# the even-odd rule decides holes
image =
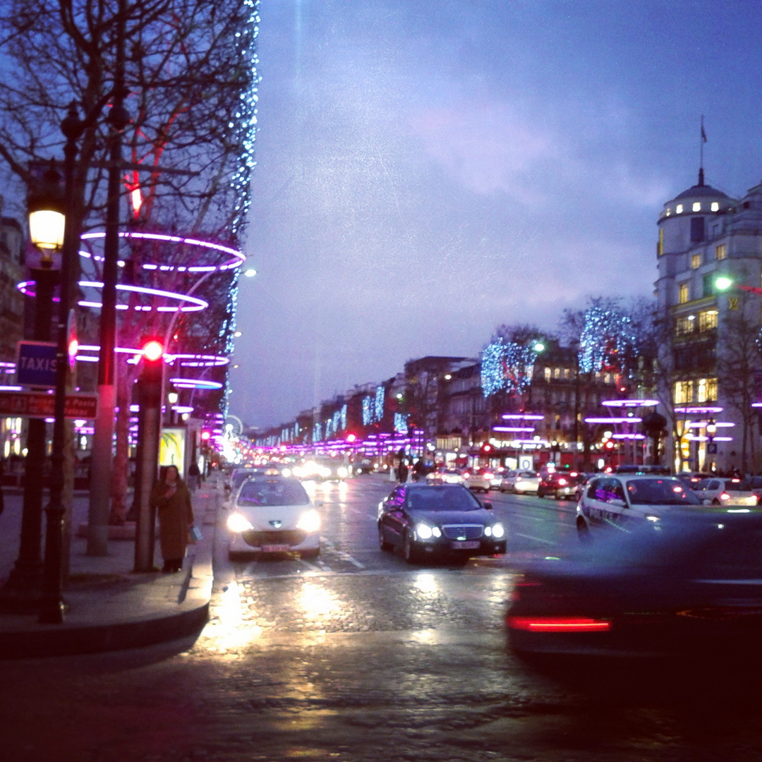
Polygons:
[[230,411],[648,296],[664,202],[762,178],[762,4],[261,0]]

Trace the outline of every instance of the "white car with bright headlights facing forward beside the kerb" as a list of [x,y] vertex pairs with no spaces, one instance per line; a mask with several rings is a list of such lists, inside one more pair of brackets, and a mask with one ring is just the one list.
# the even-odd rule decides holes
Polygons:
[[297,552],[303,559],[320,553],[320,514],[299,479],[255,476],[236,493],[227,526],[230,559],[251,552]]

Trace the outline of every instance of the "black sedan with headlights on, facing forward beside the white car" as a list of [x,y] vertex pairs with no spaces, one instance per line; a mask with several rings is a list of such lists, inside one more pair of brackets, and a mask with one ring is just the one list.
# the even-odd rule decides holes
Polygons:
[[379,503],[379,546],[399,547],[411,564],[504,553],[505,527],[490,509],[462,485],[399,485]]

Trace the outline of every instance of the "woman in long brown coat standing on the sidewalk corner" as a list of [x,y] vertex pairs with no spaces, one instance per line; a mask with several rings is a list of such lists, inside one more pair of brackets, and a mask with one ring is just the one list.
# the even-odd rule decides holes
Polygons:
[[164,479],[153,485],[151,505],[158,511],[158,536],[164,559],[162,571],[180,571],[194,516],[191,491],[180,478],[177,466],[167,466]]

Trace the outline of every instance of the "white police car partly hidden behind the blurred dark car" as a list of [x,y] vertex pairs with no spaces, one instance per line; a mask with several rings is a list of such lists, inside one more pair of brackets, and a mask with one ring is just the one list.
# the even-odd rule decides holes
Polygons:
[[674,507],[700,506],[692,490],[674,476],[603,474],[591,479],[577,504],[577,530],[607,527],[631,530],[645,520],[658,521]]

